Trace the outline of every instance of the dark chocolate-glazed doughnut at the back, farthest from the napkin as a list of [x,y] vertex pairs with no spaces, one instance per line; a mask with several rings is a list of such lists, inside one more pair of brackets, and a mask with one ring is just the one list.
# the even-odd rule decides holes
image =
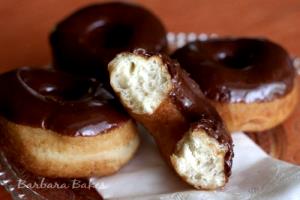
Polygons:
[[110,2],[82,8],[50,34],[54,67],[108,82],[107,64],[121,51],[167,50],[166,30],[149,10]]

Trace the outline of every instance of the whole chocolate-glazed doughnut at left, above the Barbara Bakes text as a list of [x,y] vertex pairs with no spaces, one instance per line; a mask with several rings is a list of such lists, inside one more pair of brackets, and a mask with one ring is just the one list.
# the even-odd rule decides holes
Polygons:
[[109,175],[137,150],[135,124],[93,79],[20,68],[0,76],[0,94],[5,149],[34,174]]

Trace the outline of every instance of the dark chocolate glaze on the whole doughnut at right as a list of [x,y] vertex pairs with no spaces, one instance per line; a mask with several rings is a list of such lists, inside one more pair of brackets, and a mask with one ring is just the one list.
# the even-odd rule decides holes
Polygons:
[[288,53],[265,39],[223,38],[190,42],[172,55],[211,100],[266,102],[292,90]]

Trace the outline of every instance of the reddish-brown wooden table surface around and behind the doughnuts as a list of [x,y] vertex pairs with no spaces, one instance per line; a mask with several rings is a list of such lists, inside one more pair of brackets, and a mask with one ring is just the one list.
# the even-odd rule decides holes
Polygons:
[[[0,3],[0,71],[50,61],[48,33],[75,9],[95,0],[10,0]],[[143,0],[172,32],[218,33],[227,36],[264,36],[300,55],[299,0]],[[287,139],[282,159],[300,163],[296,116],[284,125]],[[299,133],[300,134],[300,133]],[[300,143],[300,142],[299,142]],[[299,153],[297,153],[299,152]],[[0,187],[0,199],[10,199]]]

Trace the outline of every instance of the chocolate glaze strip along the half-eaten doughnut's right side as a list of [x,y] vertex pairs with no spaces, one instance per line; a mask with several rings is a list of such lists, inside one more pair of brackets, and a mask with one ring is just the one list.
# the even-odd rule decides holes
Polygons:
[[137,49],[134,53],[148,58],[153,55],[159,56],[163,60],[163,63],[168,67],[173,83],[173,89],[169,95],[186,119],[186,124],[190,125],[182,127],[178,131],[185,133],[188,128],[193,130],[203,129],[210,137],[216,139],[219,144],[226,146],[228,151],[224,159],[224,170],[226,176],[229,177],[234,156],[232,138],[215,108],[205,99],[198,84],[181,69],[178,62],[164,55],[149,53],[143,49]]

